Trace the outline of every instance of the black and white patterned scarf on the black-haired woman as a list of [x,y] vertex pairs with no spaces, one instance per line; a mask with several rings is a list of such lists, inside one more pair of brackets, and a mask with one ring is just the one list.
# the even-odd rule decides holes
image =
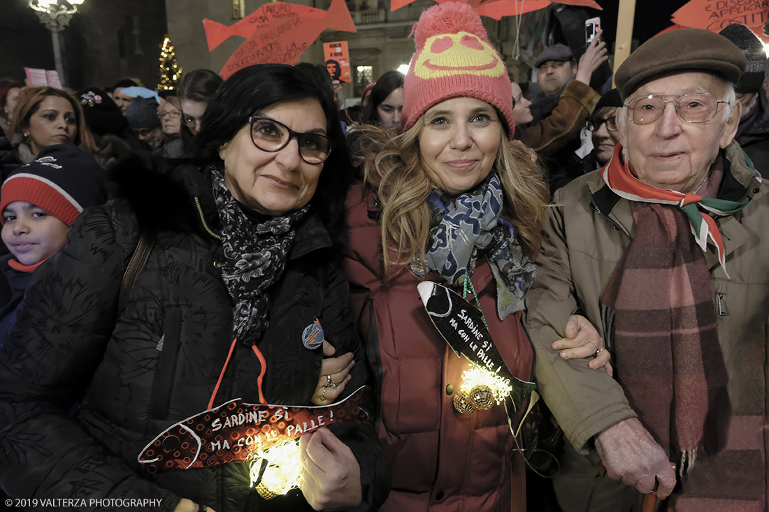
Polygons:
[[248,218],[225,185],[225,178],[211,169],[211,191],[221,221],[225,261],[221,277],[235,299],[233,330],[238,340],[252,345],[267,328],[268,288],[283,274],[294,243],[294,226],[305,217],[309,205],[265,222]]

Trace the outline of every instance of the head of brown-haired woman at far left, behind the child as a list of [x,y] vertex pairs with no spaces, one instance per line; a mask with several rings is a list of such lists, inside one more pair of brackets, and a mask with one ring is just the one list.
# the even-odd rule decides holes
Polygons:
[[15,155],[21,165],[31,162],[45,146],[74,144],[91,154],[94,145],[80,102],[67,91],[47,86],[22,90],[10,133],[22,137],[15,145]]

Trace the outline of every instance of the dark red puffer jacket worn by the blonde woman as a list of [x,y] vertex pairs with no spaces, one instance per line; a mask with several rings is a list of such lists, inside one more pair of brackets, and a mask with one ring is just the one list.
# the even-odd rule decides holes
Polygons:
[[[469,362],[432,325],[417,291],[421,278],[408,270],[384,277],[376,195],[352,188],[347,208],[345,272],[376,379],[379,440],[392,464],[390,496],[380,510],[508,511],[511,483],[514,510],[524,510],[524,470],[520,457],[511,463],[515,444],[504,406],[471,414],[454,410],[453,393]],[[518,378],[529,380],[531,344],[518,314],[499,320],[496,283],[484,260],[472,283],[501,356]]]

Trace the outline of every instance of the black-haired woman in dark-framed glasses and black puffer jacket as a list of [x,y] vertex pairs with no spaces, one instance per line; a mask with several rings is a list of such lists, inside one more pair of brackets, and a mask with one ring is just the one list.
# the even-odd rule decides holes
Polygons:
[[[303,435],[288,461],[299,489],[271,500],[251,487],[261,477],[250,462],[141,464],[168,427],[236,398],[331,404],[367,383],[338,261],[352,169],[327,97],[292,66],[245,68],[208,103],[193,164],[118,167],[118,200],[82,214],[38,269],[0,349],[0,487],[11,497],[217,512],[382,503],[387,464],[365,422]],[[150,249],[126,287],[140,241]]]

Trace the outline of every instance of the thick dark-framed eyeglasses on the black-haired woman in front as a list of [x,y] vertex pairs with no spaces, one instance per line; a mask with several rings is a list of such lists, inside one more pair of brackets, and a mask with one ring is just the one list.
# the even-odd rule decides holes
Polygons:
[[262,118],[252,115],[248,118],[251,123],[251,142],[261,149],[275,153],[285,148],[292,138],[299,144],[299,156],[308,164],[322,164],[331,154],[334,141],[319,133],[299,133],[275,119]]

